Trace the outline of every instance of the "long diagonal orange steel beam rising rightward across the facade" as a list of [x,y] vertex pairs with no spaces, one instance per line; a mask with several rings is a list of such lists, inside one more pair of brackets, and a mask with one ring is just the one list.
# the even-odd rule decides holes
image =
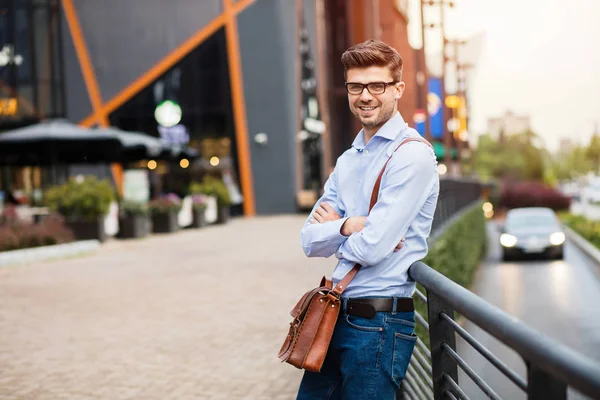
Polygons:
[[[249,5],[251,5],[253,2],[254,0],[240,0],[235,5],[233,5],[231,11],[234,15],[237,15],[238,13],[246,9]],[[139,78],[137,78],[135,81],[133,81],[123,90],[121,90],[108,102],[106,102],[106,104],[102,108],[102,114],[109,115],[111,112],[125,104],[125,102],[127,102],[136,94],[138,94],[142,89],[148,87],[148,85],[150,85],[162,74],[171,69],[183,57],[185,57],[192,50],[197,48],[200,44],[202,44],[206,39],[208,39],[212,34],[214,34],[224,25],[225,13],[221,13],[217,17],[215,17],[215,19],[210,21],[208,25],[204,26],[202,29],[200,29],[198,32],[192,35],[188,40],[186,40],[173,51],[171,51],[171,53],[167,54],[152,68],[150,68]],[[88,115],[83,120],[81,120],[79,124],[83,126],[90,126],[93,125],[98,120],[98,118],[99,115],[94,112],[91,115]]]

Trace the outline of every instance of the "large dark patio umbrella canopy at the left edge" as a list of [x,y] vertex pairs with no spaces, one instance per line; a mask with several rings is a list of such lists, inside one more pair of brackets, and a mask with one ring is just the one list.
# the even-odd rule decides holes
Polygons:
[[117,161],[122,141],[67,120],[49,120],[0,134],[0,165],[55,165]]

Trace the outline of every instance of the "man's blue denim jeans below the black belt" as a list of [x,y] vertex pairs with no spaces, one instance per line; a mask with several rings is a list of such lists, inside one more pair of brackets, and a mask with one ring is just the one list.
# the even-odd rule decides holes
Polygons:
[[304,372],[297,400],[393,400],[415,347],[414,312],[372,319],[340,311],[321,372]]

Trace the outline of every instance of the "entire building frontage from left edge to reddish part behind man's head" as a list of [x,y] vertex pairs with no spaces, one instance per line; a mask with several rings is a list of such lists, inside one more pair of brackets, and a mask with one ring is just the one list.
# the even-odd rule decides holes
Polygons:
[[[0,99],[0,131],[65,117],[144,132],[201,155],[185,171],[159,165],[161,190],[181,191],[197,178],[192,170],[227,172],[239,213],[295,212],[312,206],[359,129],[341,53],[368,38],[389,41],[414,82],[400,3],[0,0],[2,46],[13,49],[0,54],[0,64],[12,60],[0,65],[9,96]],[[415,99],[413,86],[400,104],[409,123]],[[109,175],[122,185],[121,166]]]

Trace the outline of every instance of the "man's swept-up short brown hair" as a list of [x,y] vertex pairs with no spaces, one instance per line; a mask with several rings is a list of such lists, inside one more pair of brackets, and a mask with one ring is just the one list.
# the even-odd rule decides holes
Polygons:
[[350,47],[342,54],[344,79],[351,68],[388,67],[395,81],[402,80],[402,57],[390,45],[380,40],[367,40]]

